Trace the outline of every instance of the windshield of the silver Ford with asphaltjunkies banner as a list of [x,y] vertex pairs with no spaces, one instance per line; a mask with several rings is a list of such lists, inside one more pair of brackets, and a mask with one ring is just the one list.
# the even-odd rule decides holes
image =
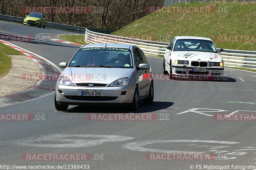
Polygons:
[[70,66],[112,66],[117,68],[133,68],[130,49],[125,48],[80,48],[71,62]]

